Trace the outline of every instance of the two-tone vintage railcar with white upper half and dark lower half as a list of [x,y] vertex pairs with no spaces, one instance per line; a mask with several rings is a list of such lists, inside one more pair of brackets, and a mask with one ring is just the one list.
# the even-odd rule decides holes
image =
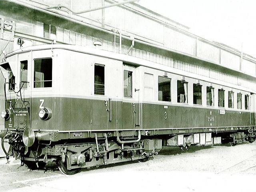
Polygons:
[[[6,158],[63,174],[130,160],[163,145],[255,138],[254,91],[132,56],[49,44],[0,63]],[[4,148],[8,140],[10,148]]]

